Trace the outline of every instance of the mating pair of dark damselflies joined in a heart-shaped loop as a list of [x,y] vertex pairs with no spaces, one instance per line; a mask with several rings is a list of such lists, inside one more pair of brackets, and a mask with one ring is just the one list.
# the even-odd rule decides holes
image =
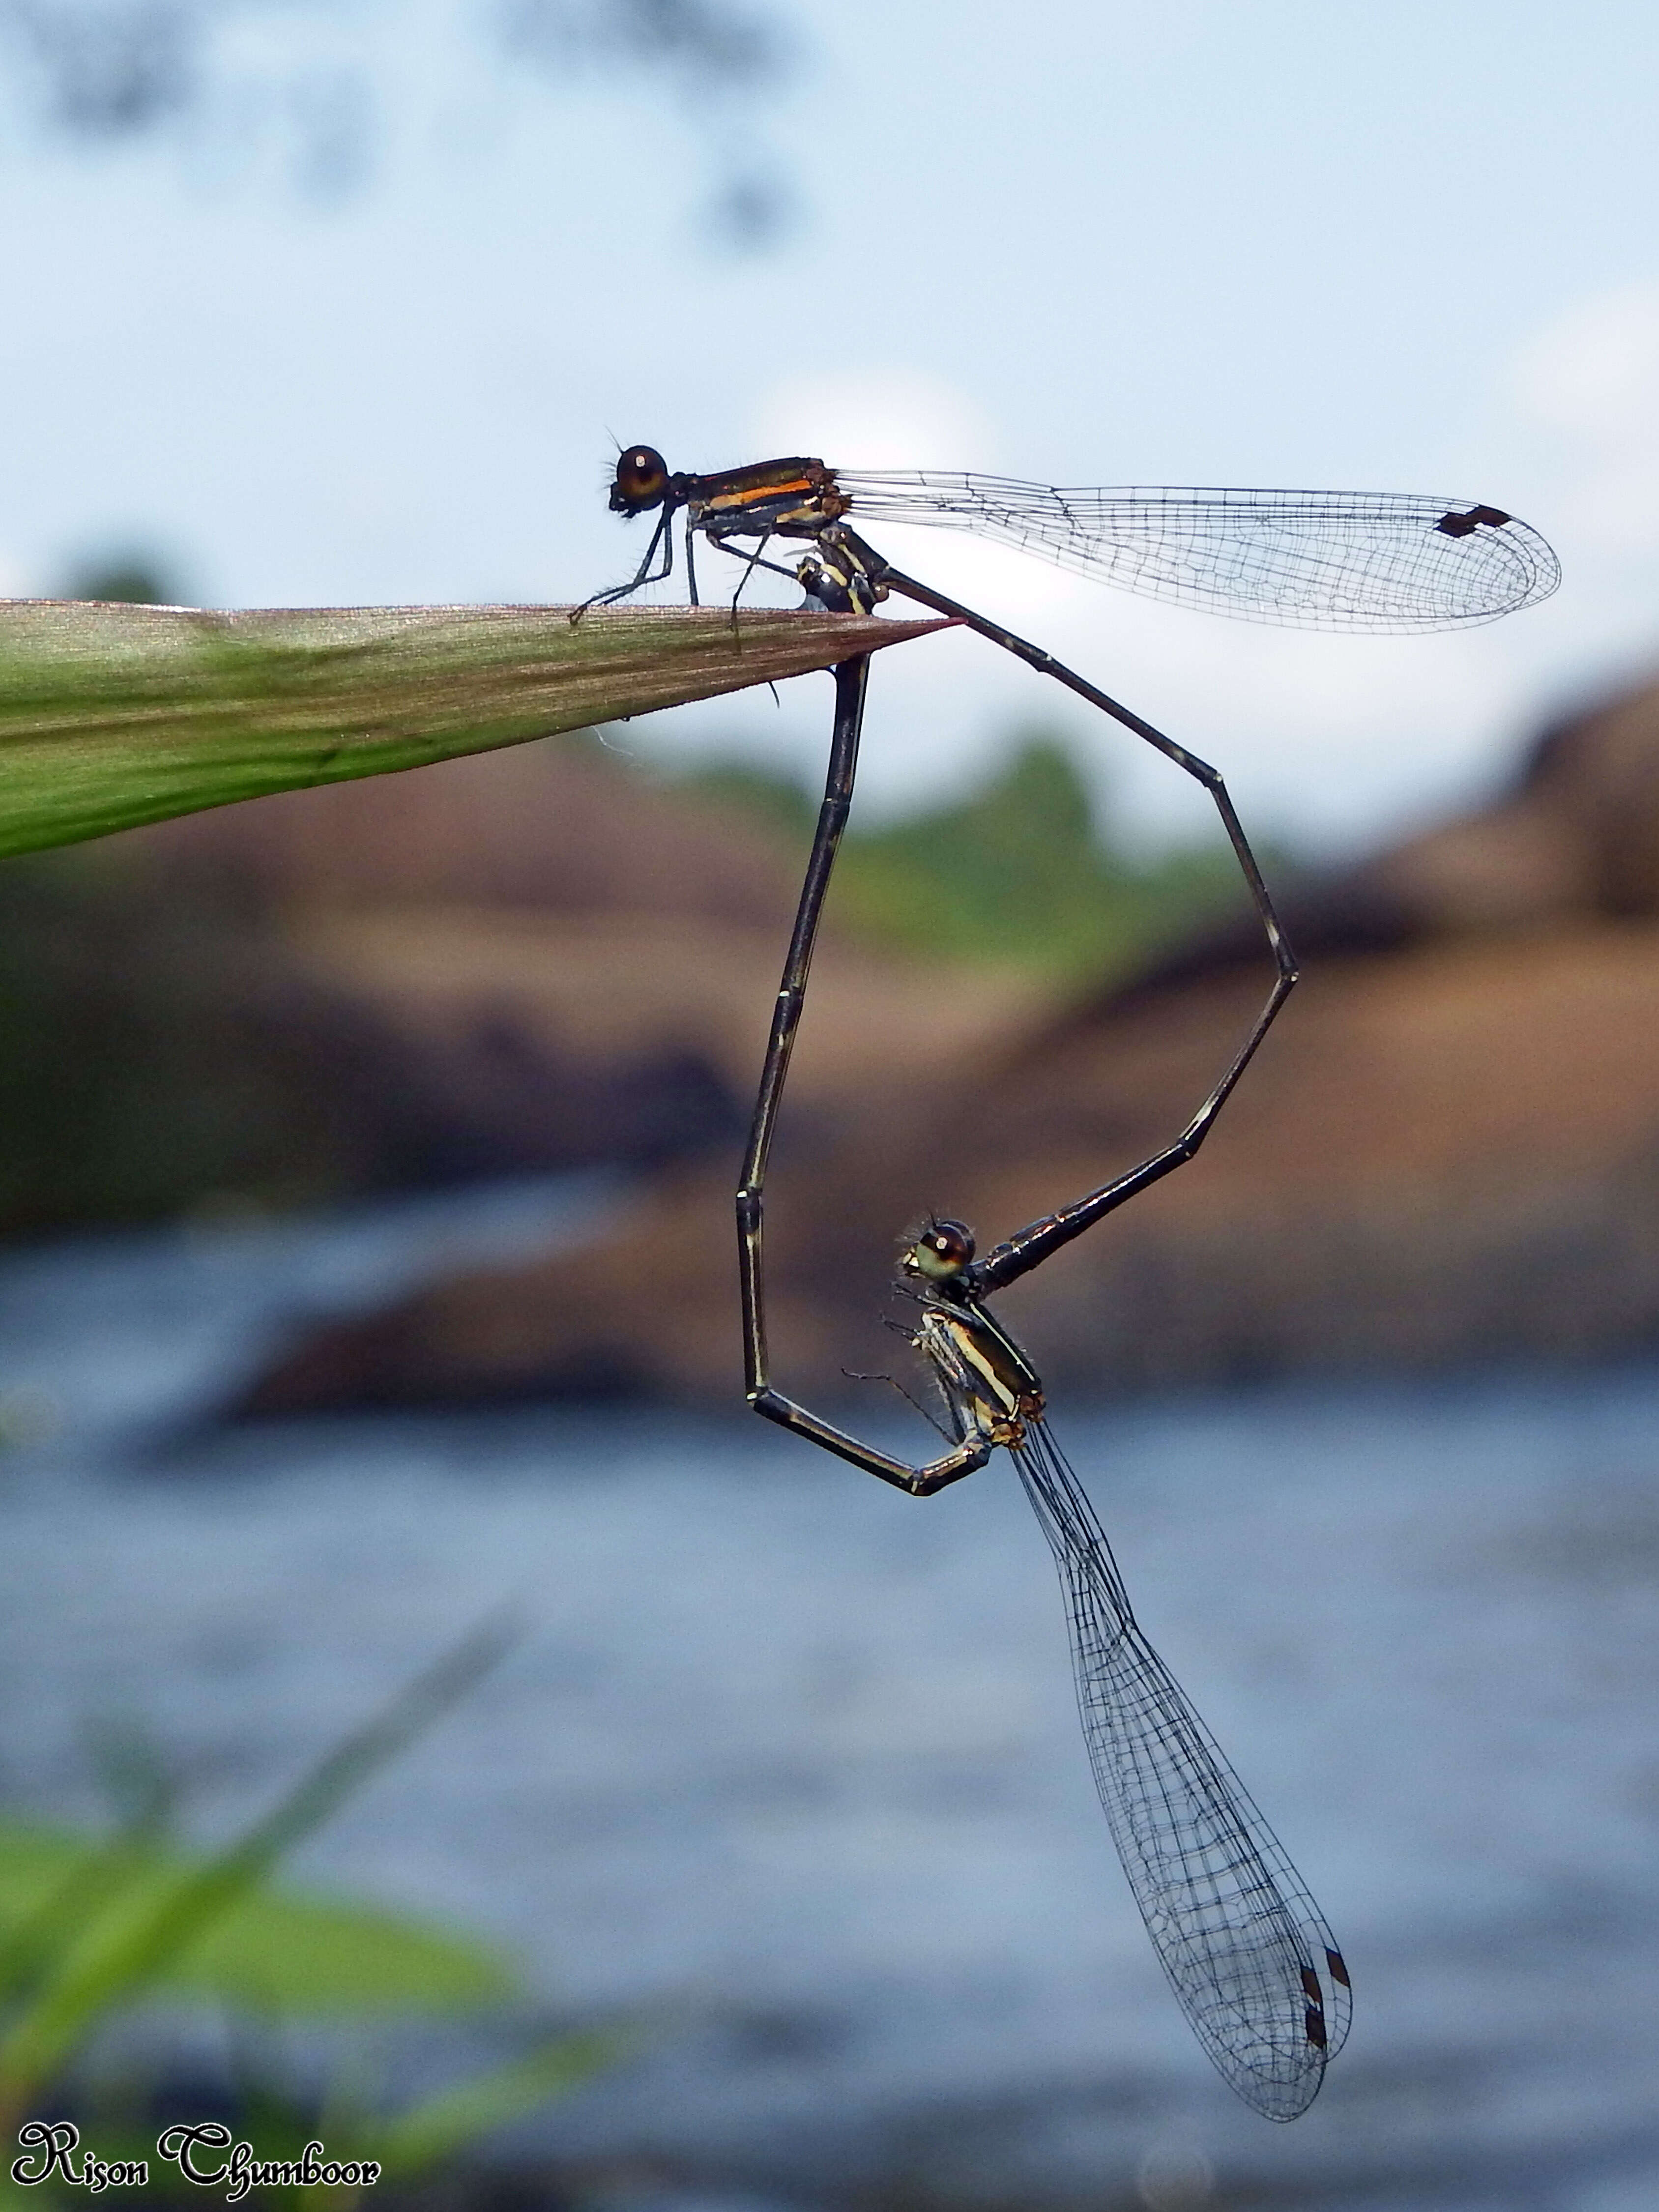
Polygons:
[[[675,518],[697,599],[695,544],[792,577],[807,604],[869,613],[889,595],[978,630],[1133,730],[1203,785],[1221,816],[1272,956],[1272,984],[1243,1046],[1186,1128],[1150,1159],[1029,1223],[984,1256],[971,1230],[929,1217],[911,1232],[898,1287],[916,1303],[909,1340],[936,1387],[945,1451],[909,1464],[772,1387],[765,1336],[763,1188],[812,949],[852,805],[869,659],[836,668],[836,714],[818,830],[783,967],[737,1192],[748,1400],[757,1413],[929,1498],[1006,1449],[1055,1555],[1071,1626],[1088,1759],[1124,1871],[1199,2042],[1270,2119],[1307,2110],[1349,2024],[1349,1973],[1307,1887],[1172,1674],[1141,1635],[1106,1533],[1046,1420],[1029,1354],[987,1298],[1029,1274],[1126,1199],[1190,1161],[1267,1035],[1296,962],[1225,783],[1197,754],[1040,646],[894,568],[849,526],[971,529],[1064,568],[1159,599],[1332,630],[1438,630],[1544,599],[1559,582],[1548,544],[1498,507],[1409,493],[1060,489],[998,476],[852,471],[790,456],[675,476],[653,447],[617,460],[611,507],[655,513],[637,573],[588,604],[672,573]],[[774,540],[805,542],[785,566]]]

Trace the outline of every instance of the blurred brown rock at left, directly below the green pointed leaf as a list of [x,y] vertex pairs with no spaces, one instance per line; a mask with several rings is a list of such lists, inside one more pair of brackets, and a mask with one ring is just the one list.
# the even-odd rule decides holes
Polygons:
[[[787,834],[551,741],[157,823],[0,876],[0,1228],[661,1170],[741,1141]],[[799,1099],[975,1004],[827,942]]]

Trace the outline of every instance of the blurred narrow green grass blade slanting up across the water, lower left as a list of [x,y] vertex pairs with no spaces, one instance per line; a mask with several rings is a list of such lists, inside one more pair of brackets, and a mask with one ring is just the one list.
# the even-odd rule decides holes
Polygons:
[[467,1697],[513,1641],[507,1621],[473,1630],[321,1759],[237,1843],[186,1869],[133,1911],[111,1911],[91,1927],[0,2042],[0,2135],[102,2013],[153,1984],[270,1876],[283,1851],[321,1827],[378,1767]]

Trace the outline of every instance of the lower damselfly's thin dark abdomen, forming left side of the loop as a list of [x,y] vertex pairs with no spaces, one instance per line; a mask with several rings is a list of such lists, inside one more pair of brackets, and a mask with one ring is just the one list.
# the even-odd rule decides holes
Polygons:
[[960,1475],[971,1475],[975,1467],[984,1467],[993,1451],[991,1438],[973,1431],[962,1444],[942,1453],[938,1460],[929,1460],[925,1467],[909,1467],[905,1460],[896,1460],[891,1453],[878,1451],[874,1444],[860,1444],[858,1438],[847,1436],[845,1429],[836,1429],[832,1422],[810,1413],[792,1398],[774,1391],[768,1376],[765,1354],[765,1166],[772,1155],[772,1133],[776,1128],[779,1104],[783,1102],[783,1084],[790,1073],[790,1053],[794,1051],[794,1035],[801,1026],[801,1011],[805,1006],[812,949],[818,938],[818,918],[823,916],[830,874],[836,865],[836,847],[841,845],[841,832],[847,827],[847,812],[852,807],[867,677],[869,655],[858,655],[858,659],[843,661],[836,668],[836,726],[830,741],[830,772],[825,776],[823,807],[818,810],[818,832],[812,841],[812,858],[807,860],[805,883],[801,885],[801,905],[790,936],[790,951],[783,962],[783,982],[779,984],[776,1004],[772,1009],[772,1033],[765,1044],[761,1088],[754,1099],[754,1119],[750,1124],[750,1141],[743,1150],[743,1175],[737,1188],[737,1252],[739,1287],[743,1296],[743,1380],[748,1402],[765,1420],[774,1420],[783,1429],[794,1429],[796,1436],[812,1438],[814,1444],[823,1444],[825,1451],[834,1451],[838,1458],[852,1460],[854,1467],[863,1467],[867,1473],[880,1475],[883,1482],[891,1482],[900,1491],[927,1498],[931,1491],[945,1489],[947,1482],[956,1482]]

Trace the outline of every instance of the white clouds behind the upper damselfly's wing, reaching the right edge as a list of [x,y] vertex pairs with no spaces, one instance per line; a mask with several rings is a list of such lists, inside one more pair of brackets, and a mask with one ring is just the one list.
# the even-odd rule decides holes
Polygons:
[[[849,467],[995,469],[1002,438],[953,385],[916,369],[803,374],[754,416],[754,453]],[[1544,712],[1639,672],[1659,633],[1659,285],[1590,299],[1533,336],[1486,396],[1486,495],[1542,524],[1566,588],[1513,622],[1440,637],[1332,637],[1256,628],[1135,599],[969,533],[872,526],[896,566],[927,577],[1212,759],[1245,821],[1352,847],[1478,801]],[[1400,489],[1422,489],[1402,484]],[[787,593],[781,593],[787,597]],[[883,657],[863,790],[876,807],[938,803],[995,765],[1011,730],[1066,728],[1152,838],[1194,825],[1179,770],[969,635]],[[730,734],[816,761],[801,708],[726,706]],[[1201,818],[1199,803],[1199,818]]]

